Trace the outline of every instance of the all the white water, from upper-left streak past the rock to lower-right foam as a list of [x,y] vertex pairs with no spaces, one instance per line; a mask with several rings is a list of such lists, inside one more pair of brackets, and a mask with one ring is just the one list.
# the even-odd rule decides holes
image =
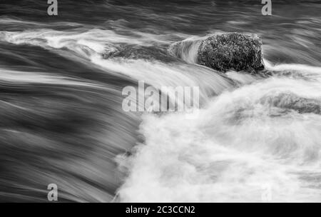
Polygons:
[[[143,141],[128,150],[131,155],[116,158],[126,178],[114,201],[263,201],[266,189],[272,201],[321,200],[320,67],[265,59],[272,74],[267,78],[223,75],[195,64],[198,37],[134,35],[101,29],[0,32],[0,41],[40,46],[156,88],[200,86],[202,106],[193,119],[141,115]],[[102,57],[115,44],[167,48],[186,38],[178,55],[183,61]]]

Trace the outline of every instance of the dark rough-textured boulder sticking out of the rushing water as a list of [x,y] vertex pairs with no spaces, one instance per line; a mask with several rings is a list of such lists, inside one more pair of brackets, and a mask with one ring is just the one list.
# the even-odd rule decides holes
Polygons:
[[256,34],[216,34],[201,41],[198,64],[218,71],[264,69],[262,40]]

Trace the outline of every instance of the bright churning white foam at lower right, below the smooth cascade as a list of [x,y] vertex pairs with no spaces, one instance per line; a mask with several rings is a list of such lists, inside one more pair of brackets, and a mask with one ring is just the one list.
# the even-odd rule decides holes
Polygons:
[[320,201],[320,68],[278,68],[312,81],[255,81],[214,97],[195,120],[143,116],[146,143],[119,159],[130,171],[120,200],[261,202],[270,189],[274,202]]

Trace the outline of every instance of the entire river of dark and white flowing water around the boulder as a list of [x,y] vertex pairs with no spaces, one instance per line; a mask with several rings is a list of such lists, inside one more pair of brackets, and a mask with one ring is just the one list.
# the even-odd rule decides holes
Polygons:
[[[48,6],[0,2],[0,201],[321,202],[320,1]],[[224,32],[261,36],[265,74],[195,64]],[[197,118],[123,111],[138,81],[199,86]]]

